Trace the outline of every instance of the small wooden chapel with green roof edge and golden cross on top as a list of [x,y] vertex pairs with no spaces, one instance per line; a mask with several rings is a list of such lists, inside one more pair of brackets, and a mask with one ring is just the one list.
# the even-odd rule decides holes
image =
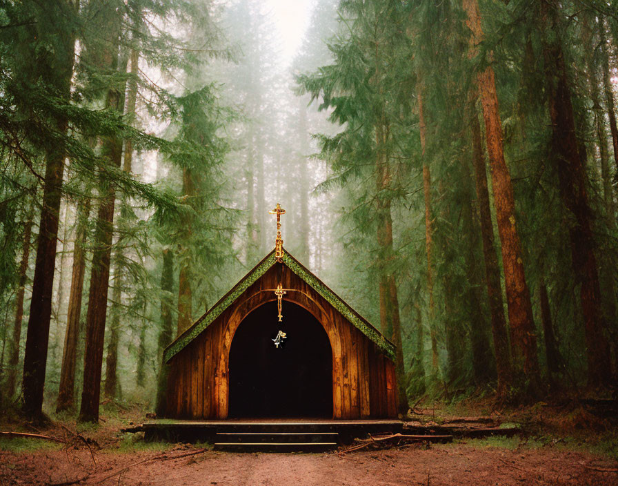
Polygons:
[[395,347],[275,249],[163,354],[166,417],[396,418]]

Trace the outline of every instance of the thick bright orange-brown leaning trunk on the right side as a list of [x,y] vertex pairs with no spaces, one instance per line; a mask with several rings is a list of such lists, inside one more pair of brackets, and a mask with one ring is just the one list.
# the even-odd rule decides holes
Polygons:
[[[468,14],[466,24],[472,31],[471,50],[477,52],[479,43],[484,39],[478,1],[463,0],[463,9]],[[541,381],[537,336],[532,317],[530,290],[526,283],[521,240],[515,222],[515,195],[510,173],[504,161],[502,124],[495,75],[491,66],[478,73],[477,86],[485,119],[494,205],[502,249],[512,360],[517,371],[523,369],[524,373],[520,378],[522,383],[524,379],[528,382],[528,392],[536,394]]]

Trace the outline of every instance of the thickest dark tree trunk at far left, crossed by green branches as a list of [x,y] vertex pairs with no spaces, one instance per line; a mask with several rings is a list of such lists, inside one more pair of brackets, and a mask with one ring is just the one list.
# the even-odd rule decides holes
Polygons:
[[[48,96],[57,97],[61,102],[68,104],[76,35],[72,26],[67,25],[66,15],[76,14],[78,4],[75,1],[66,0],[41,7],[36,2],[26,2],[24,7],[32,12],[34,17],[28,29],[32,32],[29,33],[38,39],[38,46],[30,43],[26,47],[26,51],[32,49],[32,52],[28,52],[24,57],[24,61],[32,62],[27,72],[36,76],[30,83],[40,79],[50,88]],[[50,23],[63,26],[63,35],[56,37],[55,32],[46,30],[45,26]],[[54,46],[52,50],[54,55],[49,55],[50,51],[45,48],[51,45]],[[60,135],[66,135],[68,119],[64,113],[60,112],[52,118],[52,128]],[[43,387],[65,157],[66,150],[63,141],[57,141],[48,146],[26,351],[23,358],[23,409],[32,417],[41,417],[43,413]]]

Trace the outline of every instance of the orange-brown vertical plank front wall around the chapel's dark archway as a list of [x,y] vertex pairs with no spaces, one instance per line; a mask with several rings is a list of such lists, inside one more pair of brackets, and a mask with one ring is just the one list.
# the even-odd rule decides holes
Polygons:
[[[273,300],[276,268],[270,269],[223,311],[168,366],[167,413],[170,418],[227,418],[227,358],[242,318]],[[326,329],[333,349],[333,418],[397,416],[395,365],[378,347],[290,269],[283,271],[285,300],[304,307]]]

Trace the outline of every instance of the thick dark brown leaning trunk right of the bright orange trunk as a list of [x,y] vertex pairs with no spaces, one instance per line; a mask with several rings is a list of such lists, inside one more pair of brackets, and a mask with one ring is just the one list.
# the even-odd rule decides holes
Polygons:
[[549,111],[552,122],[552,153],[557,164],[559,190],[564,206],[575,217],[569,236],[572,267],[580,288],[581,311],[584,316],[586,355],[588,358],[588,386],[597,387],[610,383],[609,347],[603,335],[601,321],[601,288],[595,240],[590,219],[592,211],[586,190],[586,168],[581,159],[581,148],[575,132],[575,116],[571,91],[564,61],[561,39],[556,39],[558,12],[548,6],[541,7],[544,28],[552,32],[551,39],[544,39],[546,82]]

